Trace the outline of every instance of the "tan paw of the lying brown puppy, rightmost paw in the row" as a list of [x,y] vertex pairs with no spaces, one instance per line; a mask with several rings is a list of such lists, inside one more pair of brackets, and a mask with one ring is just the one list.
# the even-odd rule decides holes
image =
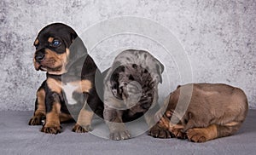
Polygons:
[[189,129],[187,131],[189,141],[192,142],[206,142],[207,137],[200,129]]

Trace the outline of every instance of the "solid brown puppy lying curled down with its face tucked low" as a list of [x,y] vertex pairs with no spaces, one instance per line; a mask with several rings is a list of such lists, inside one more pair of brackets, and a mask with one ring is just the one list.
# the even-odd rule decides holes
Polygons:
[[160,116],[160,121],[148,135],[193,142],[233,135],[248,111],[247,96],[241,89],[218,83],[178,86],[167,96],[165,104],[164,115],[158,112],[156,117]]

